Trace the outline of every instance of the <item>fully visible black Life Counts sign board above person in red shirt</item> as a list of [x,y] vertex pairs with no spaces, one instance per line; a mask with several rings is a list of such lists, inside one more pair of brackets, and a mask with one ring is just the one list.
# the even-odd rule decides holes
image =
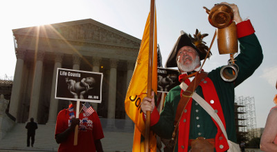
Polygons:
[[55,98],[101,103],[102,73],[57,68]]

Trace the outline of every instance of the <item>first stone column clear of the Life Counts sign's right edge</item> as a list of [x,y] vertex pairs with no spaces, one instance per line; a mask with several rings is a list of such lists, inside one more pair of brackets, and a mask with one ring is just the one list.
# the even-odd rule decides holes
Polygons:
[[110,60],[109,69],[109,101],[108,101],[108,118],[114,119],[116,115],[116,67],[118,60]]

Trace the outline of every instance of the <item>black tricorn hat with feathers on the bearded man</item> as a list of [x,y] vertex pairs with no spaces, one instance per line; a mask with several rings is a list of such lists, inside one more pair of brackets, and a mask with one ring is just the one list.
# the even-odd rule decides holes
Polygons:
[[[206,42],[202,41],[202,39],[208,34],[201,35],[201,32],[199,32],[196,29],[194,37],[191,37],[191,35],[186,34],[186,32],[181,31],[181,36],[177,39],[175,46],[172,48],[170,55],[168,56],[168,60],[166,61],[166,68],[170,67],[177,67],[177,61],[176,56],[178,53],[178,50],[182,48],[183,46],[190,46],[196,50],[196,52],[199,55],[200,61],[202,59],[205,59],[206,54],[208,52],[208,46],[206,46]],[[211,52],[208,55],[208,57],[211,56]]]

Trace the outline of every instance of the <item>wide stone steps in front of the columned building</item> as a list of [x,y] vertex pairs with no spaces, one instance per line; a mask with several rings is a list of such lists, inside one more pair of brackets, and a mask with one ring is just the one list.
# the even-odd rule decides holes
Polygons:
[[[101,140],[104,151],[132,151],[133,142],[133,124],[127,123],[125,129],[121,127],[121,122],[114,122],[115,128],[107,128],[106,122],[102,120],[103,131],[105,138]],[[116,120],[117,121],[117,120]],[[120,120],[121,121],[121,120]],[[119,123],[119,124],[118,124]],[[121,125],[121,126],[120,126]],[[0,152],[15,152],[15,151],[57,151],[59,144],[55,142],[55,124],[38,124],[38,129],[35,135],[34,147],[26,146],[27,129],[26,124],[15,124],[2,140],[0,140]]]

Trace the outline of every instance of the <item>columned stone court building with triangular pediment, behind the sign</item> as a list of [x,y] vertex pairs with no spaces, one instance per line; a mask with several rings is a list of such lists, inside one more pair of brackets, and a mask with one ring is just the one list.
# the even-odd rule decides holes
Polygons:
[[16,122],[34,117],[55,123],[69,105],[55,99],[57,68],[103,73],[102,103],[93,103],[100,117],[125,119],[125,95],[141,39],[93,19],[12,30],[17,63],[9,113]]

